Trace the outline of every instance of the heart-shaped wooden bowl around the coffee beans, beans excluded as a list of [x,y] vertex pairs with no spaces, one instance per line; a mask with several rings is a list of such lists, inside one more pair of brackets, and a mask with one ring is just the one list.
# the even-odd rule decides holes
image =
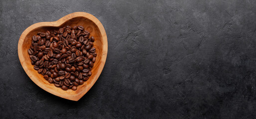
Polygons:
[[[90,32],[90,36],[94,36],[95,38],[94,47],[96,48],[97,57],[91,70],[92,75],[87,81],[84,82],[83,85],[79,85],[76,91],[71,89],[64,91],[59,87],[55,87],[54,84],[50,84],[33,68],[27,53],[27,50],[29,49],[32,41],[32,36],[36,35],[37,32],[45,32],[46,30],[58,30],[59,27],[64,27],[67,25],[72,27],[75,25],[82,25],[84,26],[84,29]],[[107,51],[107,35],[103,25],[96,17],[85,12],[74,12],[54,22],[35,23],[24,30],[18,41],[19,61],[30,79],[43,90],[61,98],[73,101],[78,101],[85,93],[88,92],[88,90],[90,90],[90,88],[96,82],[104,67],[107,58]]]

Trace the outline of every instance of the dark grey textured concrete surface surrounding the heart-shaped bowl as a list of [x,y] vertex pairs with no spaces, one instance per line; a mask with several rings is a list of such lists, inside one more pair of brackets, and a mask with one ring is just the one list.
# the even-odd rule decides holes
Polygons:
[[[1,119],[253,119],[255,0],[0,0]],[[35,85],[17,55],[28,26],[93,14],[105,67],[78,102]],[[11,118],[8,118],[11,117]]]

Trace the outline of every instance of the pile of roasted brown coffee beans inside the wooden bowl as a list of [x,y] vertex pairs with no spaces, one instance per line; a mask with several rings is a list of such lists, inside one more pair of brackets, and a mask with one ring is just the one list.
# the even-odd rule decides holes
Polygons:
[[76,90],[89,79],[96,52],[94,37],[83,26],[38,32],[28,49],[34,69],[63,90]]

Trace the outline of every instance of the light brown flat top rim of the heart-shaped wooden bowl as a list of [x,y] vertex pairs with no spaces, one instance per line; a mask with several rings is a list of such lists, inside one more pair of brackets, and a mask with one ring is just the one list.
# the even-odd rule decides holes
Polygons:
[[[75,17],[84,17],[84,18],[87,18],[89,20],[91,20],[92,22],[94,22],[96,24],[96,26],[99,28],[99,31],[100,31],[100,34],[102,35],[102,41],[103,41],[103,47],[102,47],[102,56],[101,56],[101,60],[99,63],[102,63],[99,65],[99,69],[96,71],[96,76],[92,79],[91,83],[87,85],[88,88],[86,88],[85,91],[83,91],[82,93],[77,93],[77,94],[60,94],[58,93],[57,91],[53,91],[49,88],[47,88],[45,85],[41,84],[41,83],[38,83],[38,81],[36,81],[36,77],[34,77],[30,71],[28,70],[28,68],[26,66],[24,66],[24,62],[25,62],[25,59],[23,57],[23,51],[22,51],[22,44],[23,42],[25,42],[24,38],[26,37],[26,35],[38,28],[38,27],[58,27],[58,26],[61,26],[63,23],[65,23],[66,21],[70,20],[70,19],[73,19]],[[106,35],[106,31],[103,27],[103,25],[101,24],[101,22],[95,17],[93,16],[92,14],[89,14],[89,13],[86,13],[86,12],[73,12],[73,13],[70,13],[68,15],[65,15],[63,16],[62,18],[58,19],[57,21],[52,21],[52,22],[38,22],[38,23],[35,23],[35,24],[32,24],[30,25],[29,27],[27,27],[23,32],[22,34],[20,35],[20,38],[18,40],[18,58],[19,58],[19,61],[20,61],[20,64],[22,66],[22,68],[24,69],[24,71],[26,72],[26,74],[28,75],[28,77],[37,85],[39,86],[40,88],[42,88],[43,90],[55,95],[55,96],[58,96],[58,97],[61,97],[61,98],[64,98],[64,99],[68,99],[68,100],[72,100],[72,101],[78,101],[80,98],[82,98],[89,90],[90,88],[95,84],[95,82],[97,81],[97,79],[99,78],[102,70],[103,70],[103,67],[105,65],[105,62],[106,62],[106,59],[107,59],[107,51],[108,51],[108,44],[107,44],[107,35]],[[26,52],[26,51],[24,51]]]

